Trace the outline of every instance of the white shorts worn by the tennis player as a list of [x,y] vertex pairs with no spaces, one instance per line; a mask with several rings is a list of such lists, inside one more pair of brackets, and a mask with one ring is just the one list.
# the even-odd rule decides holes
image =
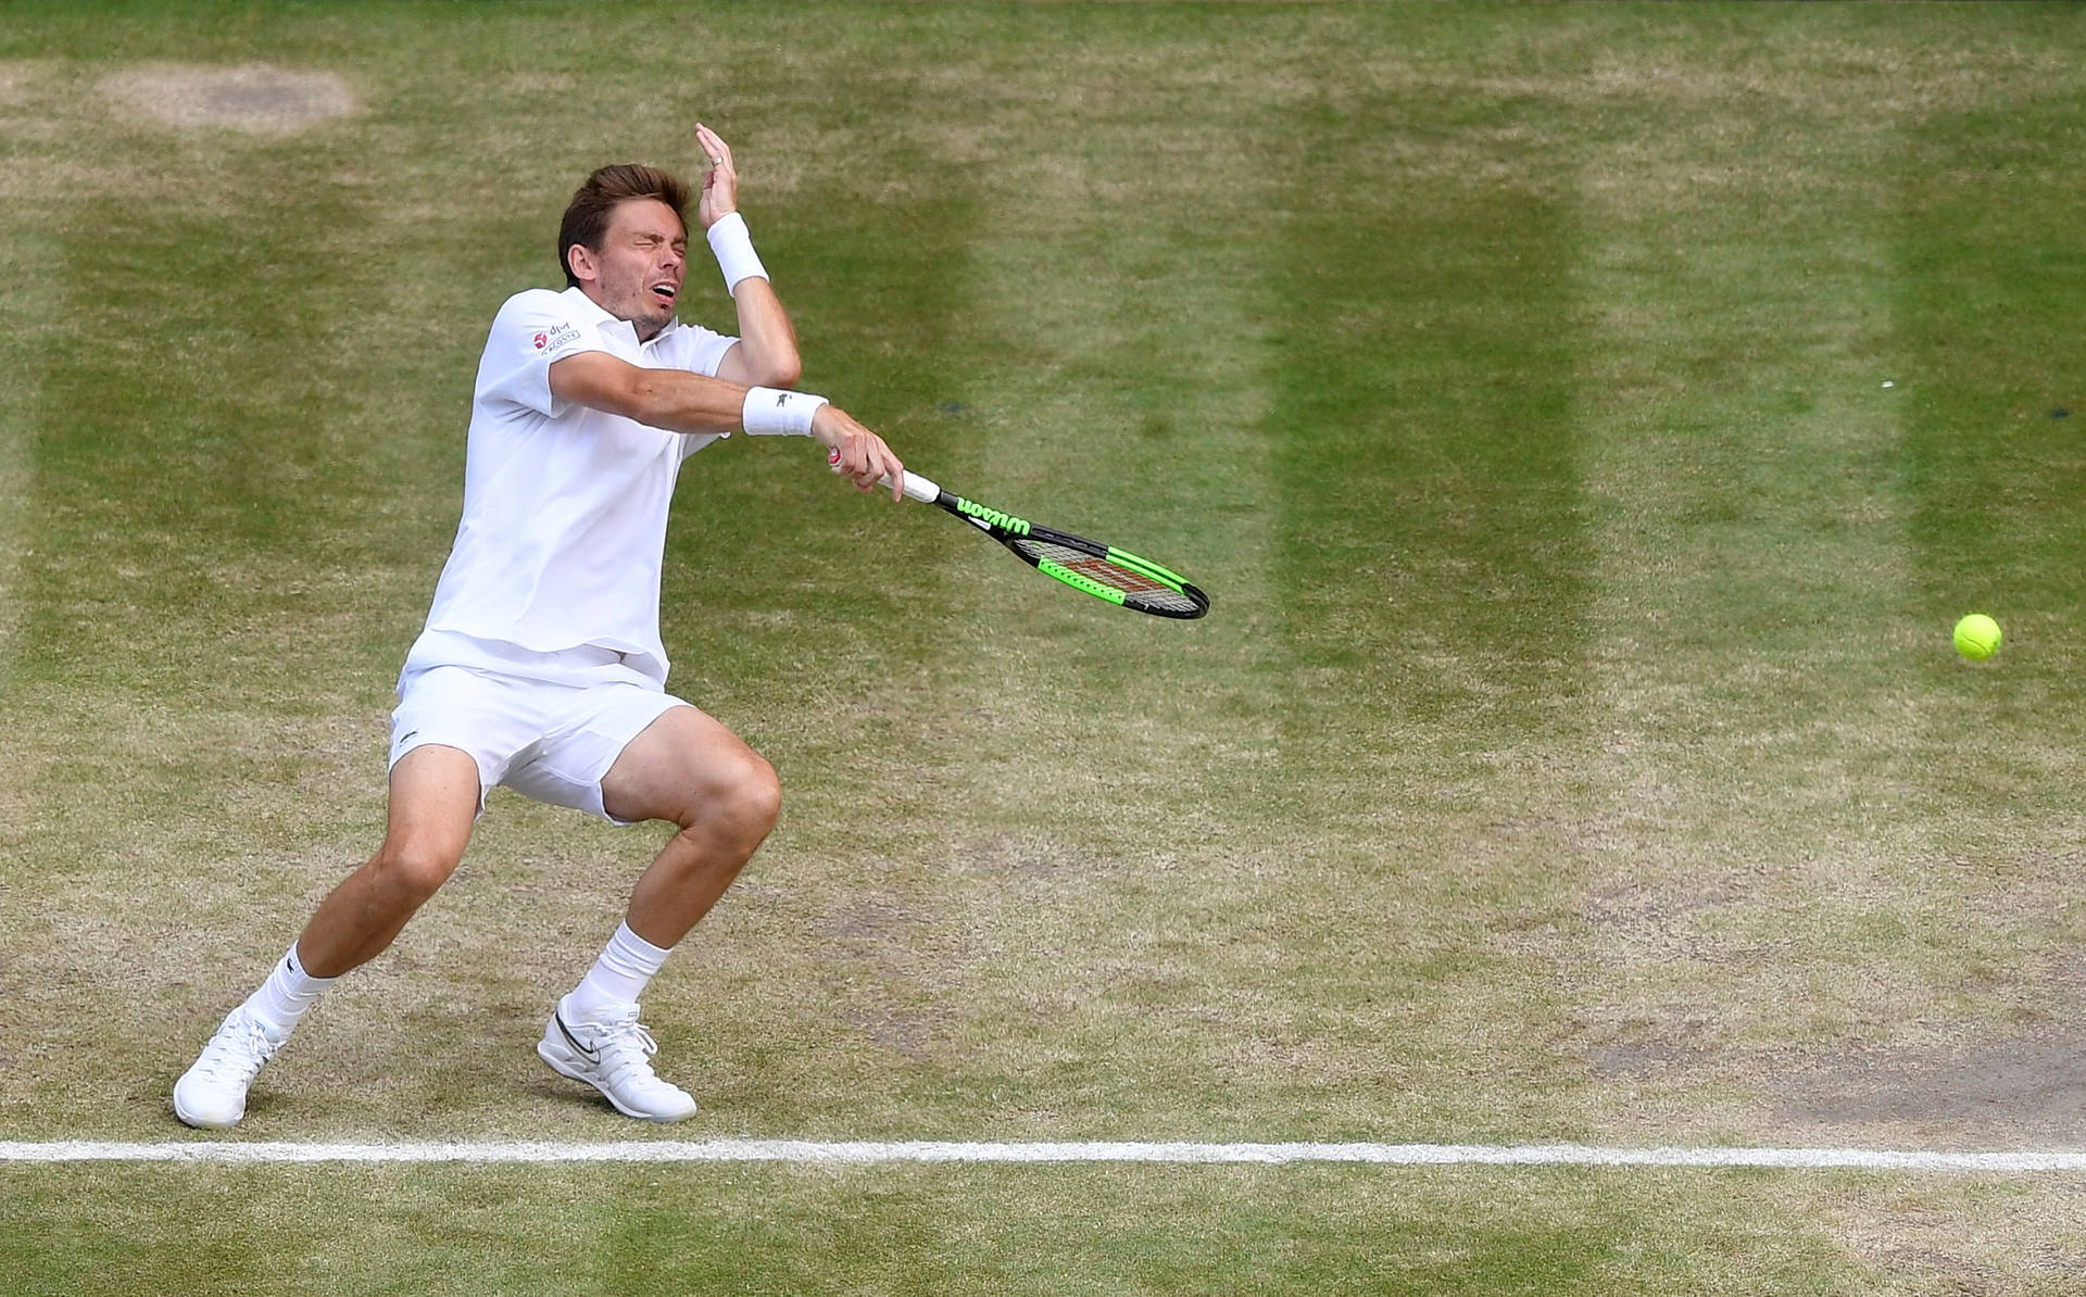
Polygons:
[[[601,648],[547,655],[509,648],[503,657],[505,669],[409,661],[392,711],[390,763],[417,747],[453,747],[478,763],[480,813],[486,790],[505,784],[555,807],[628,824],[603,809],[601,780],[645,726],[688,703]],[[528,669],[526,657],[540,657],[542,674],[557,680],[513,674]]]

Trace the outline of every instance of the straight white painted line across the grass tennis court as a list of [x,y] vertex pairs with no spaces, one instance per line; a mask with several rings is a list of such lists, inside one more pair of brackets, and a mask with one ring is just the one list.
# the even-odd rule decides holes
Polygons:
[[1377,1166],[1704,1166],[1886,1172],[2086,1172],[2086,1151],[1938,1153],[1927,1149],[1604,1149],[1594,1145],[1210,1145],[705,1139],[630,1143],[94,1143],[0,1141],[0,1161],[1172,1161]]

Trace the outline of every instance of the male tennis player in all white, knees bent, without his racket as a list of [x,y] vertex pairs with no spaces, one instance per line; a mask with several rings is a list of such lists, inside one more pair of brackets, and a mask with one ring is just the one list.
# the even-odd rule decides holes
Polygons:
[[780,784],[736,734],[665,692],[674,480],[734,432],[816,438],[862,490],[903,473],[882,438],[793,390],[797,334],[738,215],[732,150],[703,125],[697,146],[709,163],[697,217],[738,336],[674,317],[686,183],[640,165],[595,171],[557,236],[567,288],[509,298],[478,363],[463,521],[398,676],[384,845],[175,1082],[173,1111],[190,1126],[246,1116],[254,1074],[319,993],[382,953],[455,872],[492,784],[611,824],[680,828],[536,1053],[626,1116],[695,1111],[653,1074],[638,997],[774,828]]

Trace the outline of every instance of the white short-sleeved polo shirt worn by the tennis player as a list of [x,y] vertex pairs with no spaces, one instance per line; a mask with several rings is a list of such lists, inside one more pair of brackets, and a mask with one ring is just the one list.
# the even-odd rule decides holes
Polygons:
[[[478,363],[463,521],[407,671],[513,669],[511,653],[592,648],[665,684],[659,567],[680,463],[718,440],[551,396],[551,361],[584,350],[715,377],[736,342],[672,321],[638,342],[578,288],[507,298]],[[728,434],[724,434],[728,436]],[[592,657],[592,655],[578,655]]]

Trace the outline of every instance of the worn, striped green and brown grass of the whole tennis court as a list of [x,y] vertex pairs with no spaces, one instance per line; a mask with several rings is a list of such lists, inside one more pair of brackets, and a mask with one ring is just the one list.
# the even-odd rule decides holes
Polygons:
[[[375,842],[484,327],[732,142],[801,444],[672,686],[784,819],[647,999],[688,1130],[2078,1147],[2065,6],[0,4],[6,1139],[167,1088]],[[175,129],[106,77],[334,71]],[[707,265],[688,313],[728,323]],[[1886,382],[1890,386],[1886,386]],[[2057,415],[2057,411],[2069,411]],[[1990,663],[1948,648],[1988,611]],[[626,1139],[530,1057],[655,830],[494,792],[254,1139]],[[396,1055],[409,1041],[411,1053]],[[29,1291],[2038,1293],[2061,1178],[15,1168]],[[1047,1243],[1035,1243],[1045,1234]],[[586,1284],[582,1284],[586,1287]]]

